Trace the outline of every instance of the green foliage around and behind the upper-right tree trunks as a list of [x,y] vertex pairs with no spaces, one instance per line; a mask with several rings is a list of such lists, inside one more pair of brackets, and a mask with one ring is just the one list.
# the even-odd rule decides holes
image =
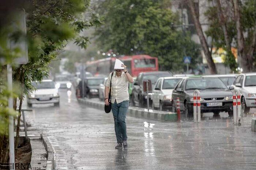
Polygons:
[[[208,0],[209,2],[213,2],[215,0]],[[226,20],[227,33],[229,36],[230,44],[232,47],[237,48],[237,29],[236,29],[236,19],[234,17],[233,6],[230,1],[221,1],[223,4],[223,11]],[[214,3],[212,3],[214,4]],[[256,23],[256,1],[255,0],[245,0],[244,3],[241,3],[241,24],[243,31],[248,33],[249,38],[246,38],[245,44],[246,49],[251,46],[252,42],[252,34],[254,31],[255,23]],[[211,6],[207,9],[205,15],[209,21],[209,28],[206,31],[206,35],[212,37],[212,44],[217,48],[223,48],[227,51],[225,64],[230,67],[231,70],[235,71],[237,68],[237,63],[235,61],[234,55],[231,53],[229,49],[227,49],[225,44],[224,33],[221,28],[218,9],[216,6]],[[236,42],[236,43],[233,43]],[[254,65],[256,63],[256,55],[254,54]]]

